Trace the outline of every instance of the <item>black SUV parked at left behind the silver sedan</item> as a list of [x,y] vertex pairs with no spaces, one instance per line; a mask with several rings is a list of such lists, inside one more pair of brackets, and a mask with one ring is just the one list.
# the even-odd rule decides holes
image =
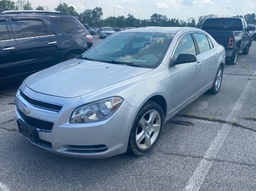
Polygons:
[[0,86],[77,57],[92,45],[79,20],[65,13],[0,13]]

